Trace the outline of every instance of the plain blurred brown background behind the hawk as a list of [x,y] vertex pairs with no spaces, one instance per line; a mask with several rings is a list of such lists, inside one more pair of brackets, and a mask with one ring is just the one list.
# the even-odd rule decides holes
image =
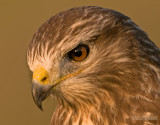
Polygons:
[[26,50],[37,28],[52,15],[77,6],[115,9],[132,18],[160,47],[159,0],[0,0],[0,125],[48,125],[55,102],[44,112],[31,96]]

